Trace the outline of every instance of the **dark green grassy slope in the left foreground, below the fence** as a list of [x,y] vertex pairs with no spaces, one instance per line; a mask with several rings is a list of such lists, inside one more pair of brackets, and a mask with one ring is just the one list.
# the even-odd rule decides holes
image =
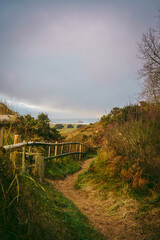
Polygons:
[[102,239],[74,204],[49,183],[13,172],[3,157],[0,169],[0,239]]

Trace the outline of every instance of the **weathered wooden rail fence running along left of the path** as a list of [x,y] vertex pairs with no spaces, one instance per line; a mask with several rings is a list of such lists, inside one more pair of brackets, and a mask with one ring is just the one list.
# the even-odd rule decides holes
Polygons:
[[[31,149],[31,147],[34,149]],[[43,147],[43,149],[41,147]],[[1,148],[4,153],[10,154],[10,159],[12,159],[14,166],[16,166],[17,154],[20,154],[21,160],[19,160],[19,162],[21,162],[22,171],[25,171],[26,168],[32,168],[33,174],[38,176],[41,180],[44,178],[45,160],[57,159],[70,155],[77,155],[77,158],[80,160],[82,155],[86,154],[90,149],[86,144],[80,142],[21,142],[2,146]],[[43,152],[44,148],[45,152]],[[48,151],[46,151],[46,148],[48,148]],[[28,164],[27,160],[29,157],[32,157],[33,160]]]

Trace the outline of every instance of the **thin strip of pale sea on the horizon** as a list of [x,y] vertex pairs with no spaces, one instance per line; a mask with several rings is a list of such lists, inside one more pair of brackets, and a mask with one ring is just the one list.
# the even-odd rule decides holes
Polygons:
[[99,118],[81,118],[81,119],[52,119],[52,123],[79,123],[79,124],[90,124],[98,122]]

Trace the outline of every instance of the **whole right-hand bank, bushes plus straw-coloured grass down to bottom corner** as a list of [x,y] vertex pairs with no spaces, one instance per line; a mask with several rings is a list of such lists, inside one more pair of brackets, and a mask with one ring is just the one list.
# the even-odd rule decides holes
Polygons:
[[111,206],[110,217],[130,214],[126,202],[133,202],[135,227],[142,239],[160,238],[160,109],[157,104],[114,108],[101,119],[106,145],[89,169],[79,175],[79,189],[94,189]]

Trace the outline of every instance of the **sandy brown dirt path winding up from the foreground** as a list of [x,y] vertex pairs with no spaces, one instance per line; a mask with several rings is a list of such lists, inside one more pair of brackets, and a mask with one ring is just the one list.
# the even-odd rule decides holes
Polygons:
[[99,230],[109,240],[139,240],[143,238],[142,228],[135,222],[137,202],[133,199],[120,199],[113,195],[102,199],[97,191],[90,187],[76,190],[74,183],[80,173],[85,171],[93,159],[88,159],[82,169],[68,176],[65,180],[47,180],[54,187],[72,200],[78,209],[85,214],[93,227]]

